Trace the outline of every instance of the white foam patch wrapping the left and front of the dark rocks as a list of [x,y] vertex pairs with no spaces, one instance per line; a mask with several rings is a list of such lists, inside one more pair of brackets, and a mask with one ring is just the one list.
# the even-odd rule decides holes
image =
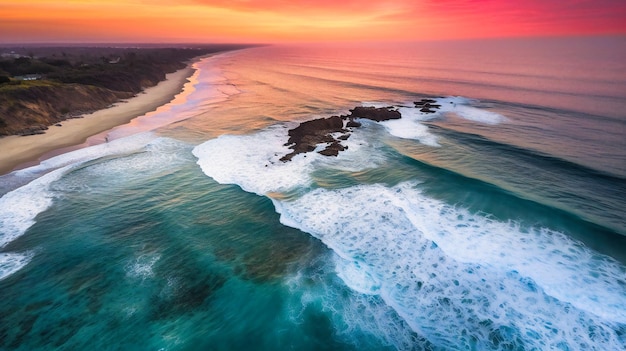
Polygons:
[[287,131],[285,126],[274,126],[251,135],[222,135],[197,146],[193,154],[202,171],[218,183],[237,184],[259,195],[307,187],[312,182],[310,173],[319,167],[357,171],[382,162],[380,156],[362,152],[376,142],[359,133],[342,142],[348,150],[338,157],[309,152],[282,162],[280,158],[292,151],[284,145]]

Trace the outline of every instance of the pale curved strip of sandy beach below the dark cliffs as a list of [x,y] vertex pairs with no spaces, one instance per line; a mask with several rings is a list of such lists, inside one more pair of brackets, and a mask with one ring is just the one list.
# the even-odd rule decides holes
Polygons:
[[25,163],[41,161],[42,156],[51,151],[81,144],[90,136],[156,110],[172,101],[193,73],[194,69],[189,64],[186,68],[167,74],[164,81],[131,99],[83,115],[83,118],[65,120],[61,122],[61,127],[50,126],[45,134],[0,138],[0,174],[9,173]]

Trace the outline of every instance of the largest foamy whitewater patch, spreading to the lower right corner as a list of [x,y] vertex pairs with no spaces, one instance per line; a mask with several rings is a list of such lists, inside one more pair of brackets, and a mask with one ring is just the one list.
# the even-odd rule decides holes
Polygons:
[[412,184],[315,189],[273,202],[282,223],[345,261],[336,270],[347,286],[380,296],[438,347],[626,344],[615,329],[626,323],[624,267],[562,234],[470,216]]

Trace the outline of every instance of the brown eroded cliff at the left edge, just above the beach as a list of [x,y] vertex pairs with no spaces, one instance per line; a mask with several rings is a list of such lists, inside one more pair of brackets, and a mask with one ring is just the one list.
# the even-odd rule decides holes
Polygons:
[[49,81],[0,85],[0,136],[43,133],[48,126],[110,106],[131,92]]

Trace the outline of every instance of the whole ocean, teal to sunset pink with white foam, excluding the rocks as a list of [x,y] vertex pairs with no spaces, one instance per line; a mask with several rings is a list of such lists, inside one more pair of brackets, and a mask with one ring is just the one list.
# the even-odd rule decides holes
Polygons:
[[[626,348],[626,38],[194,67],[170,104],[0,177],[1,350]],[[359,106],[402,118],[281,160]]]

